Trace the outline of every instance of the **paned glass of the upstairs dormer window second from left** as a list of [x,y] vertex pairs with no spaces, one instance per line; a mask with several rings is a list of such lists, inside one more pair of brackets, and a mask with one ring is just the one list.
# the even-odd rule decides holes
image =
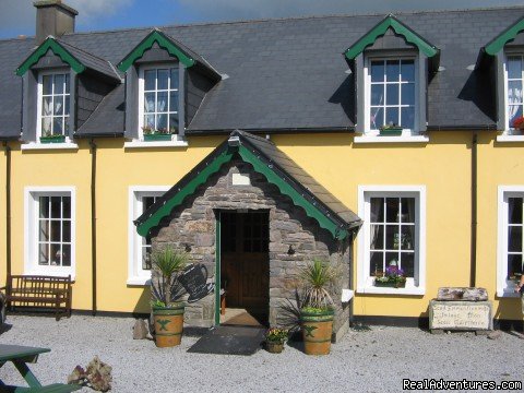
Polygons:
[[144,131],[178,132],[178,67],[144,70]]

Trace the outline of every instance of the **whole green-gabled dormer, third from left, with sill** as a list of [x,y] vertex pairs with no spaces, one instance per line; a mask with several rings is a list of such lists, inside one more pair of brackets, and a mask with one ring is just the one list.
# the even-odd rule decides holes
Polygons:
[[355,142],[427,142],[427,85],[440,50],[390,14],[344,55],[357,86],[355,131],[362,136]]

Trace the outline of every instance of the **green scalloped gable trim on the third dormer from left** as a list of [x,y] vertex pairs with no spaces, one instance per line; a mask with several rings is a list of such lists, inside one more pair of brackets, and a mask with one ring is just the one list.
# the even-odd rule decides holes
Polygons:
[[432,44],[428,43],[407,25],[398,21],[393,15],[385,16],[379,24],[366,33],[360,39],[358,39],[354,45],[352,45],[344,52],[347,59],[354,60],[358,55],[360,55],[368,46],[373,45],[377,38],[383,36],[388,28],[392,28],[395,34],[398,34],[404,37],[406,41],[415,45],[424,55],[428,58],[437,56],[440,50]]

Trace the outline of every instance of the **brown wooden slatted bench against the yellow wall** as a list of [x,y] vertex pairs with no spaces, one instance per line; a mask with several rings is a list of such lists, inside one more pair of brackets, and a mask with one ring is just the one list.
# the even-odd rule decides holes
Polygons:
[[57,321],[63,315],[71,317],[71,275],[10,275],[3,288],[10,310],[13,307],[53,308]]

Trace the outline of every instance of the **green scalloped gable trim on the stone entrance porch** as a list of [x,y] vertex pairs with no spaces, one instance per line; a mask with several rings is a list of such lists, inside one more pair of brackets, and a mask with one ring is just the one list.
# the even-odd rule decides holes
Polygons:
[[[235,132],[231,134],[234,136]],[[238,135],[238,133],[236,134]],[[175,187],[151,206],[142,216],[135,221],[136,231],[141,236],[147,236],[151,229],[158,226],[160,221],[168,216],[171,211],[182,204],[183,200],[193,194],[199,186],[204,184],[212,175],[221,170],[222,166],[233,159],[235,155],[252,165],[253,169],[263,175],[266,180],[276,186],[282,194],[290,198],[296,206],[302,207],[306,214],[318,222],[318,224],[331,233],[338,240],[348,237],[353,228],[358,228],[361,222],[357,219],[352,223],[345,222],[336,213],[330,212],[325,206],[322,207],[320,200],[314,200],[314,195],[303,188],[297,189],[294,186],[289,175],[282,174],[282,170],[274,163],[264,159],[264,154],[249,144],[246,139],[240,136],[240,143],[229,145],[228,141],[221,144],[202,163],[186,175]],[[291,181],[289,181],[291,180]]]

